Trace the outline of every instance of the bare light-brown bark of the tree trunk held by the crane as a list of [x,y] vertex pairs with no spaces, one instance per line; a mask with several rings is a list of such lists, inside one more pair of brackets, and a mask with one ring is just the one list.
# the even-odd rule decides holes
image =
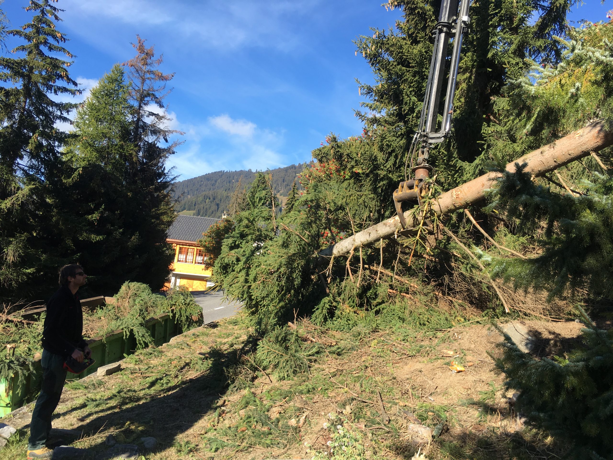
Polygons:
[[[613,132],[604,129],[604,121],[596,121],[585,128],[571,132],[568,136],[562,137],[562,139],[558,139],[552,144],[545,145],[516,159],[516,161],[506,165],[506,169],[507,171],[515,171],[516,163],[527,163],[526,171],[531,172],[535,176],[540,176],[611,145],[613,145]],[[493,185],[493,181],[498,176],[500,174],[489,172],[459,187],[446,191],[433,204],[433,210],[438,214],[444,214],[463,209],[475,202],[481,201],[485,197],[485,191]],[[405,218],[409,226],[411,224],[413,226],[418,224],[412,221],[411,211],[405,212]],[[340,256],[348,254],[351,248],[373,244],[381,238],[389,238],[398,231],[402,231],[402,226],[398,216],[395,215],[319,251],[319,255]]]

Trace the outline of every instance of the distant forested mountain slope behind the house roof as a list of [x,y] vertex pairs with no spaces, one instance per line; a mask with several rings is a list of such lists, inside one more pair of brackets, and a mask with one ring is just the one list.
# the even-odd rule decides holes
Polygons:
[[[287,196],[297,174],[307,166],[306,163],[271,169],[273,190],[280,196]],[[177,211],[193,210],[201,217],[221,218],[229,210],[232,193],[241,180],[241,188],[253,182],[256,173],[245,171],[215,171],[175,183],[175,197],[180,201]]]

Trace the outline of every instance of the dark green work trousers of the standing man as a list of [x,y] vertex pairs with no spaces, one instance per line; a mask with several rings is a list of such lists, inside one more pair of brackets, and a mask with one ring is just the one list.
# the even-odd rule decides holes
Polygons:
[[63,356],[53,355],[43,350],[42,359],[42,388],[34,405],[32,422],[30,423],[30,438],[28,450],[37,450],[45,445],[51,431],[51,416],[58,407],[59,397],[66,381]]

